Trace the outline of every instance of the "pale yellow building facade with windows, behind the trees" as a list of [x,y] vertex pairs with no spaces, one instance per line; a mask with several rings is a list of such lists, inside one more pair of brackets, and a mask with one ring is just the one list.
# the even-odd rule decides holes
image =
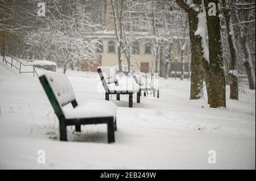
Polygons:
[[[139,14],[139,16],[142,16]],[[139,19],[143,18],[133,18],[134,23],[143,24],[139,22]],[[134,30],[136,31],[136,30]],[[155,71],[155,53],[153,51],[152,44],[148,42],[147,32],[137,33],[140,36],[139,40],[134,42],[131,46],[131,58],[130,65],[133,69],[138,71],[150,72]],[[115,34],[114,26],[114,16],[113,9],[110,0],[105,2],[105,31],[95,32],[92,38],[98,39],[100,43],[97,44],[97,54],[101,58],[100,64],[102,66],[116,66],[118,65],[118,41]],[[143,36],[145,38],[143,38]],[[167,48],[169,47],[170,48]],[[177,37],[172,37],[171,42],[164,42],[160,46],[161,50],[158,54],[158,69],[162,69],[166,62],[180,62],[181,61],[181,48],[179,44],[179,39]],[[190,58],[188,56],[188,46],[184,50],[184,62],[189,62]],[[97,62],[98,64],[98,62]],[[122,65],[127,65],[127,59],[125,54],[122,54]],[[161,70],[160,70],[161,71]]]

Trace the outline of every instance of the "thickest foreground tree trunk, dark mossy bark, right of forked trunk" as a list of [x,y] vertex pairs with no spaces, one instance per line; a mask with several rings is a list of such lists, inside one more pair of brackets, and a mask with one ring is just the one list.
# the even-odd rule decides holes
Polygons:
[[[208,15],[210,2],[216,5],[216,16]],[[220,18],[218,17],[218,0],[204,0],[209,38],[209,93],[210,107],[226,107],[226,81],[223,66]]]

